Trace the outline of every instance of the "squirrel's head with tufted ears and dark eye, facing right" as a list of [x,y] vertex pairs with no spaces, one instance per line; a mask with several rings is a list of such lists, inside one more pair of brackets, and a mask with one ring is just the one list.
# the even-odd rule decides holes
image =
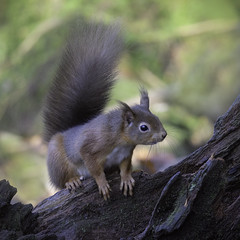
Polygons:
[[159,118],[149,110],[149,97],[146,90],[141,90],[139,105],[129,107],[120,102],[124,121],[123,134],[133,144],[152,145],[164,140],[167,136]]

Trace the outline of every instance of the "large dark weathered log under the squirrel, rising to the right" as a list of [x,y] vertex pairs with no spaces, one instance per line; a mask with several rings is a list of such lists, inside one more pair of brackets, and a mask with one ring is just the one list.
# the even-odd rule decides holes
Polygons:
[[124,197],[119,174],[109,175],[107,202],[93,179],[59,191],[34,208],[37,225],[23,239],[240,239],[240,95],[206,145],[164,172],[133,177],[134,196]]

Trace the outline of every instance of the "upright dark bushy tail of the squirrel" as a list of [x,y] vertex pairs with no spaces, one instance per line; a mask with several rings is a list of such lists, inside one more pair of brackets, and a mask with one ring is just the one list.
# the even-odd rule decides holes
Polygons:
[[123,49],[120,27],[82,23],[69,39],[43,109],[44,140],[104,109]]

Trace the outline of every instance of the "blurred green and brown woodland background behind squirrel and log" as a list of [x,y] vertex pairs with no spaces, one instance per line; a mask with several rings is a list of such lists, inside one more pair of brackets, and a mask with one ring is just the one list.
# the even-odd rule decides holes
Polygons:
[[165,142],[136,149],[135,169],[162,171],[204,145],[240,93],[238,0],[0,0],[0,179],[22,202],[54,191],[41,108],[79,18],[123,25],[128,49],[109,108],[137,103],[144,85],[168,131]]

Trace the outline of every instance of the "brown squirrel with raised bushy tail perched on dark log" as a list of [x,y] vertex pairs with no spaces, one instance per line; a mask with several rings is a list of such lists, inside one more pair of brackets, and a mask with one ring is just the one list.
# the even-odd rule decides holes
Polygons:
[[119,25],[82,23],[67,42],[57,74],[44,103],[44,140],[51,183],[76,190],[92,176],[104,199],[111,188],[104,166],[120,169],[120,190],[133,195],[131,158],[136,145],[152,145],[167,135],[159,118],[149,110],[141,89],[140,104],[119,106],[103,113],[116,82],[116,67],[123,52]]

